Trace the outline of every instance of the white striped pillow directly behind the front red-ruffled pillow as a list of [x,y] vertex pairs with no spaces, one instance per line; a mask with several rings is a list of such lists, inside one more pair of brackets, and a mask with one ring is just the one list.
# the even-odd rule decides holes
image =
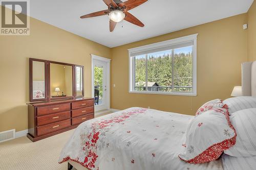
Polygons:
[[224,151],[236,157],[256,156],[256,108],[239,110],[230,116],[237,131],[237,143]]

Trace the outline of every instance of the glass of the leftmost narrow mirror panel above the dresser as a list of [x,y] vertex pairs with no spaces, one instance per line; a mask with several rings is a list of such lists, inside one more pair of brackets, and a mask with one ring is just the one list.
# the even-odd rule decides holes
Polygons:
[[33,99],[45,98],[45,62],[32,62]]

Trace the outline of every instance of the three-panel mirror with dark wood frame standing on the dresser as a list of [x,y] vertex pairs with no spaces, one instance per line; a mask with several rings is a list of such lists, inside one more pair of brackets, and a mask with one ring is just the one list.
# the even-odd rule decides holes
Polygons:
[[84,67],[29,58],[30,102],[82,98]]

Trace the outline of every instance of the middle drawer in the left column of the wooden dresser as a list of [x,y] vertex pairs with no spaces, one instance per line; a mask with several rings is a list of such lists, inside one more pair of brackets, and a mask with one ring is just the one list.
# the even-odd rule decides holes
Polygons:
[[71,111],[54,113],[45,116],[37,117],[37,126],[46,125],[54,122],[59,122],[60,120],[65,120],[71,117]]

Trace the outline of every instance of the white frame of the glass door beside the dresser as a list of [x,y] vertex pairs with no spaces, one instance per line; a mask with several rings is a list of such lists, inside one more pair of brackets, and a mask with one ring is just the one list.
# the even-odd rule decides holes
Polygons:
[[[96,56],[94,54],[91,54],[91,56],[92,56],[92,88],[91,88],[92,98],[94,98],[94,60],[99,60],[99,61],[106,62],[106,88],[108,89],[108,92],[106,93],[107,101],[105,101],[105,105],[107,109],[110,110],[110,61],[111,59]],[[100,110],[101,109],[98,110],[97,107],[95,107],[95,111],[100,111]]]

